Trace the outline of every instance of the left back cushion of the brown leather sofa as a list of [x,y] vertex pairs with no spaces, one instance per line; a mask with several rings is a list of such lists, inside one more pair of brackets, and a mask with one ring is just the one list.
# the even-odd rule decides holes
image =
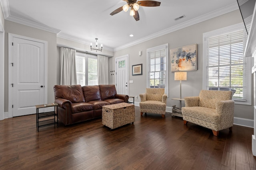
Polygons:
[[71,103],[84,102],[84,94],[81,85],[55,85],[55,99],[62,98]]

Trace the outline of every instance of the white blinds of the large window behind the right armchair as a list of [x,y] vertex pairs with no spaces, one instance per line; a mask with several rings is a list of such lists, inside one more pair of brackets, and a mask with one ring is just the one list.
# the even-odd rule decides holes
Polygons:
[[231,90],[234,100],[246,100],[246,42],[244,30],[206,38],[209,90]]

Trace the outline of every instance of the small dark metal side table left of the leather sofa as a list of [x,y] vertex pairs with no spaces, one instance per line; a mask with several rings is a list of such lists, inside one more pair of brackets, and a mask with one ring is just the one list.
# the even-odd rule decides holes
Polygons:
[[[37,131],[39,131],[39,127],[48,126],[48,125],[57,124],[57,127],[58,127],[58,106],[59,105],[56,103],[36,105]],[[54,107],[54,111],[39,113],[39,109],[46,108],[46,107]],[[56,121],[56,117],[57,117],[57,121]]]

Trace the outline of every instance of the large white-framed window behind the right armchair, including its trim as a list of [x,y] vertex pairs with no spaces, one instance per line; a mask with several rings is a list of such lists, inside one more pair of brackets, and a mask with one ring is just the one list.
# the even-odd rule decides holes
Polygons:
[[204,33],[204,88],[231,90],[236,104],[251,104],[251,62],[244,57],[247,33],[237,24]]

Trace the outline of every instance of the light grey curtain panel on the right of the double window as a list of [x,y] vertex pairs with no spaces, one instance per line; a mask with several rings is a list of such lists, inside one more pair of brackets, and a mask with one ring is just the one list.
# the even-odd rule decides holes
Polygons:
[[108,57],[97,55],[98,58],[98,84],[108,84]]

